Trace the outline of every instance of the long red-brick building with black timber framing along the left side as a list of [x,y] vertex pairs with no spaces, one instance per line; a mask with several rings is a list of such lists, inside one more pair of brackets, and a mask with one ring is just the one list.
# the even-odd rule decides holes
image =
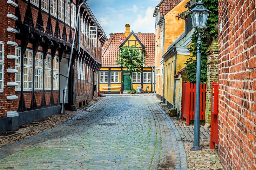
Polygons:
[[88,5],[82,5],[70,58],[78,3],[1,1],[0,133],[60,113],[69,60],[65,108],[81,106],[96,95],[107,37]]

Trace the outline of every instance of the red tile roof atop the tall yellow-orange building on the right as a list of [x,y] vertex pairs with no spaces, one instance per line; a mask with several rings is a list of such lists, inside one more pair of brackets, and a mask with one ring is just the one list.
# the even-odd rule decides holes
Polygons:
[[160,16],[166,15],[171,9],[178,5],[182,0],[161,0],[157,5],[159,7]]

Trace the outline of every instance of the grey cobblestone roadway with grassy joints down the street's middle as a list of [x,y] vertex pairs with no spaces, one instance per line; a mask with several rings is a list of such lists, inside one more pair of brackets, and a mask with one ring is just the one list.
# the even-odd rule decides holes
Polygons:
[[153,96],[108,96],[62,125],[0,148],[0,169],[187,169],[180,138]]

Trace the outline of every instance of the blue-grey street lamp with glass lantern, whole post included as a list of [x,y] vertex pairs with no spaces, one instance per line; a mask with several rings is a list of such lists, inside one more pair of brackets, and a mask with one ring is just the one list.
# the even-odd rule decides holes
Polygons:
[[203,2],[199,0],[195,7],[190,11],[192,23],[197,33],[197,62],[196,62],[196,101],[195,101],[195,122],[194,122],[194,145],[191,150],[201,150],[200,140],[200,76],[201,76],[201,43],[202,35],[206,30],[206,23],[210,11],[203,6]]

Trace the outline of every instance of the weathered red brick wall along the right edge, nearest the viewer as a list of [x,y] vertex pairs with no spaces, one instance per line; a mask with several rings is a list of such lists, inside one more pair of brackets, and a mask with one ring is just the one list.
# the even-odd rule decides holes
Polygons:
[[218,2],[220,160],[256,169],[256,1]]

